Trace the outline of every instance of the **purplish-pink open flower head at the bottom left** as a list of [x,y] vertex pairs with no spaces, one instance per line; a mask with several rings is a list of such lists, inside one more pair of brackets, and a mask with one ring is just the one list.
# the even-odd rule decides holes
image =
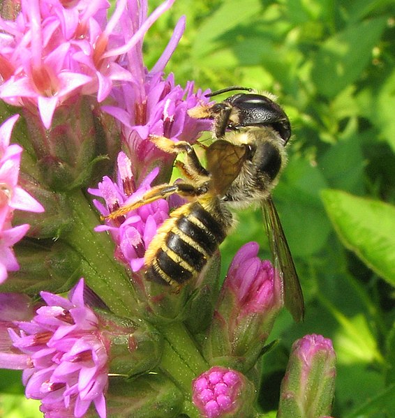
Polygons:
[[26,396],[40,399],[46,417],[82,417],[91,403],[106,416],[109,344],[83,292],[83,280],[68,299],[41,292],[47,306],[31,322],[17,322],[19,333],[9,330],[25,361]]

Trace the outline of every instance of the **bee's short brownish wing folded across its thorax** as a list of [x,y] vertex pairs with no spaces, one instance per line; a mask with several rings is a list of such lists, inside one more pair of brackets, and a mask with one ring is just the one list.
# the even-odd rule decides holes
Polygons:
[[216,140],[206,151],[207,170],[216,194],[224,194],[239,175],[246,161],[247,148],[225,140]]

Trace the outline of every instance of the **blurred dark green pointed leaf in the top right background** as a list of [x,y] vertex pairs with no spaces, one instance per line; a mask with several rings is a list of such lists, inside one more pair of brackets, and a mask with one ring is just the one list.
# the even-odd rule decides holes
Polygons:
[[384,17],[359,22],[336,33],[322,44],[313,66],[313,81],[320,94],[336,96],[361,75],[372,48],[380,40]]

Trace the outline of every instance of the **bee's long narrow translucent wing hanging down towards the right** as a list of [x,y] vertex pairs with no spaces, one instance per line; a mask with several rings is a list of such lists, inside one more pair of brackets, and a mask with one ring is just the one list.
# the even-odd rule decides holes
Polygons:
[[271,196],[262,202],[262,211],[274,268],[280,272],[283,278],[285,307],[290,311],[294,320],[299,322],[304,318],[303,294],[290,247],[285,239],[284,230]]

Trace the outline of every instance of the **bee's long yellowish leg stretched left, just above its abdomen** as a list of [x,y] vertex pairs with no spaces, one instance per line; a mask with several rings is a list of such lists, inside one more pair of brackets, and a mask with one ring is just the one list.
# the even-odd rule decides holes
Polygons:
[[151,202],[155,202],[155,200],[164,199],[165,197],[174,193],[184,197],[195,197],[207,193],[207,186],[204,184],[203,186],[195,187],[188,183],[161,184],[151,188],[151,190],[144,193],[144,195],[142,195],[142,197],[136,202],[126,204],[125,206],[122,206],[119,209],[111,212],[107,216],[103,216],[103,218],[115,219],[119,216],[124,216],[128,212],[144,206],[144,204],[149,204]]

